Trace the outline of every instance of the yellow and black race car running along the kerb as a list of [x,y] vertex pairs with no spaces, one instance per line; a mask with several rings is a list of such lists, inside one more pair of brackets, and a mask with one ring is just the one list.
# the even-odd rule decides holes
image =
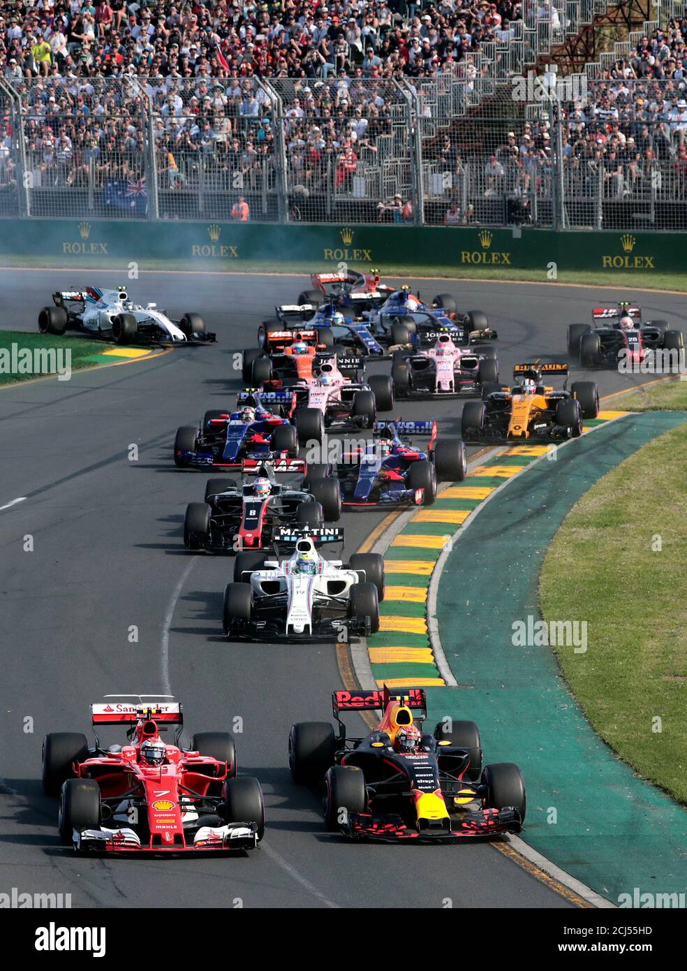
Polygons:
[[516,385],[487,385],[482,401],[468,401],[463,406],[463,441],[577,438],[582,434],[582,419],[599,415],[599,386],[577,381],[569,391],[567,378],[559,389],[542,383],[543,376],[554,374],[568,375],[568,365],[516,364]]

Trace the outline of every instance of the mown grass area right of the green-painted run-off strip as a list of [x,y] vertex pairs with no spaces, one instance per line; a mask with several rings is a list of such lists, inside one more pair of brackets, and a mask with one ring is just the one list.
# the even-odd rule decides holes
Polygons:
[[[665,386],[677,385],[685,388]],[[651,393],[659,389],[663,394],[661,385]],[[586,653],[557,652],[586,717],[645,779],[683,803],[686,480],[683,424],[585,493],[556,533],[540,575],[541,616],[588,624]]]

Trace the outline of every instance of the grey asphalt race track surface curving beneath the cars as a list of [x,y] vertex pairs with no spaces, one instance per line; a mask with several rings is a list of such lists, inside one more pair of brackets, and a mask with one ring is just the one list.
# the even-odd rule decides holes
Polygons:
[[[126,282],[124,274],[0,271],[2,326],[34,330],[49,294]],[[303,278],[144,274],[134,300],[156,300],[171,316],[198,311],[216,330],[214,347],[169,352],[128,366],[75,372],[0,389],[0,890],[70,892],[77,907],[378,907],[404,874],[404,906],[571,906],[554,889],[488,844],[350,844],[324,831],[319,797],[291,784],[288,727],[327,720],[341,685],[331,645],[229,644],[221,636],[228,558],[183,549],[186,502],[202,500],[206,476],[180,472],[172,443],[180,424],[233,404],[241,374],[233,353],[255,342],[256,324],[295,300]],[[412,282],[411,282],[412,283]],[[566,324],[590,319],[593,304],[627,297],[647,317],[685,327],[679,295],[558,285],[424,281],[422,295],[456,294],[482,309],[500,333],[502,378],[516,361],[566,360]],[[644,298],[642,300],[642,298]],[[78,339],[78,338],[75,338]],[[388,362],[375,365],[386,369]],[[573,369],[573,377],[577,377]],[[603,394],[627,385],[599,372]],[[455,435],[460,404],[411,403],[407,418],[439,420]],[[128,450],[138,445],[139,460]],[[345,514],[354,552],[381,514]],[[24,537],[33,552],[24,552]],[[138,643],[128,641],[136,624]],[[41,790],[48,731],[84,731],[88,705],[115,692],[173,692],[187,734],[237,734],[240,772],[265,791],[260,848],[237,858],[80,858],[60,846],[56,802]],[[456,713],[470,718],[469,711]],[[26,725],[33,731],[27,731]],[[354,724],[354,723],[353,723]],[[360,728],[362,723],[354,725]],[[104,735],[102,741],[120,741]],[[488,753],[487,760],[488,760]],[[517,761],[517,753],[512,753]],[[531,793],[532,795],[532,793]]]

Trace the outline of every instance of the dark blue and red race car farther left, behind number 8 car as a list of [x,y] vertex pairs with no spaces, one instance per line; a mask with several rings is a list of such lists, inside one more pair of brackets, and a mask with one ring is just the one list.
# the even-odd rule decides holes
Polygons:
[[[298,435],[287,420],[237,395],[238,411],[208,411],[200,423],[177,430],[174,460],[179,468],[244,468],[245,459],[271,461],[275,472],[302,472]],[[247,471],[246,469],[244,469]]]

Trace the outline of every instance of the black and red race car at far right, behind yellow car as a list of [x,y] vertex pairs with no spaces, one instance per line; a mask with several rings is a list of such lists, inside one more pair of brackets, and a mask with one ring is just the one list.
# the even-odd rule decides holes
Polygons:
[[681,330],[670,330],[667,320],[643,320],[641,308],[628,302],[615,307],[595,307],[593,325],[568,327],[568,352],[579,357],[582,367],[617,367],[625,359],[640,364],[657,351],[675,352],[668,370],[677,370],[684,347]]

